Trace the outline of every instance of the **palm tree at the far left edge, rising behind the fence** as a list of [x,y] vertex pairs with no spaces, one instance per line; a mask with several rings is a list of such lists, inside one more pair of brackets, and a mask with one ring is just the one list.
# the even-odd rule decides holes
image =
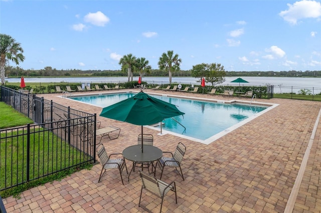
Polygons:
[[19,61],[24,61],[25,56],[22,54],[24,49],[21,43],[7,34],[0,34],[0,77],[1,83],[5,84],[5,66],[9,60],[14,61],[17,65]]

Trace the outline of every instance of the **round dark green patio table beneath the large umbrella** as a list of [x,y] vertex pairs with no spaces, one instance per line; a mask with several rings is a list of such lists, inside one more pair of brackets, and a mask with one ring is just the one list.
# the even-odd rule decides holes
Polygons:
[[153,165],[153,161],[156,161],[157,159],[160,159],[163,156],[163,151],[160,148],[157,148],[156,146],[152,145],[143,145],[144,152],[141,152],[141,145],[132,145],[127,148],[125,148],[122,151],[122,155],[125,159],[132,161],[132,168],[128,174],[128,182],[129,182],[129,176],[132,171],[135,171],[135,164],[136,163],[151,163],[151,171],[154,168],[154,175],[156,167]]

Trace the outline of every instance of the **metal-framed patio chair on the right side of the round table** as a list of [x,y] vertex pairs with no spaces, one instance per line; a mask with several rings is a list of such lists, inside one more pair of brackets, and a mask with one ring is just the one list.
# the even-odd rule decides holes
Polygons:
[[176,170],[177,170],[177,167],[180,167],[181,173],[178,170],[177,171],[182,176],[182,178],[184,180],[184,176],[183,176],[183,172],[182,172],[182,168],[181,168],[181,163],[182,163],[185,151],[186,151],[186,146],[182,142],[179,142],[174,154],[169,151],[163,151],[163,153],[172,154],[172,157],[166,157],[163,155],[161,159],[157,160],[157,164],[162,169],[161,177],[159,177],[159,179],[162,179],[164,168],[166,166],[168,166],[168,167],[175,167]]

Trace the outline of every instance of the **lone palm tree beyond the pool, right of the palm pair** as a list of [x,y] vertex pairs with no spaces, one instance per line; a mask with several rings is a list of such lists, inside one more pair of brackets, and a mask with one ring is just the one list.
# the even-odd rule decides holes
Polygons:
[[164,52],[158,60],[158,67],[169,72],[170,83],[172,82],[172,72],[179,71],[182,59],[178,54],[173,55],[173,50]]

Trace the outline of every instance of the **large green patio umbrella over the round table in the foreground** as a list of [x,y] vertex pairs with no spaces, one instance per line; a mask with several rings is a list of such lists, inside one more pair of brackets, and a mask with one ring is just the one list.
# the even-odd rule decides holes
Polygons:
[[[135,125],[150,125],[163,121],[165,118],[183,115],[176,105],[151,97],[143,91],[125,100],[104,107],[100,116],[125,121]],[[143,138],[141,137],[141,144]],[[141,145],[141,152],[143,146]]]

